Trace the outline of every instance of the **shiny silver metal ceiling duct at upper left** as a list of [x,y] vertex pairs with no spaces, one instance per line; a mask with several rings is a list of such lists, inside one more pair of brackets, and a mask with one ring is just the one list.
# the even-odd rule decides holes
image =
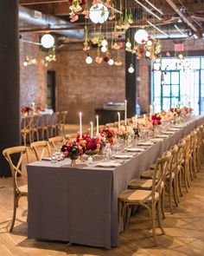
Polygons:
[[[52,15],[45,15],[37,10],[31,10],[26,7],[19,6],[19,20],[24,23],[29,23],[35,26],[43,26],[46,29],[56,30],[55,33],[61,34],[63,36],[67,36],[70,39],[83,39],[84,38],[84,31],[83,30],[73,30],[75,24],[68,23],[67,21]],[[70,28],[72,30],[59,30]]]

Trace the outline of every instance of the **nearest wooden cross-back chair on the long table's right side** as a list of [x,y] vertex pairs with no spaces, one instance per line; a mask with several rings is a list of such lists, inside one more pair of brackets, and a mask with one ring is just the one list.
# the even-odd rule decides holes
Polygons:
[[165,152],[162,158],[157,158],[155,172],[152,177],[151,190],[143,189],[127,189],[118,195],[118,228],[120,229],[121,220],[124,217],[125,209],[127,209],[127,220],[125,228],[128,225],[128,220],[131,216],[131,206],[143,206],[150,213],[152,221],[153,239],[156,245],[156,212],[158,225],[164,234],[162,219],[161,219],[161,194],[163,191],[163,183],[169,168],[171,153]]

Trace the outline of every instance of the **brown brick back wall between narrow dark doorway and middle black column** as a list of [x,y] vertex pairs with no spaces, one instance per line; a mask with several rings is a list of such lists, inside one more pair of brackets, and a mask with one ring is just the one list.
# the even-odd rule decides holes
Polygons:
[[68,110],[68,122],[77,122],[81,111],[83,121],[89,123],[94,121],[95,108],[102,108],[107,101],[124,101],[124,64],[98,64],[94,61],[96,50],[92,50],[93,62],[88,65],[81,48],[81,43],[70,43],[69,50],[57,54],[51,69],[56,71],[57,109]]

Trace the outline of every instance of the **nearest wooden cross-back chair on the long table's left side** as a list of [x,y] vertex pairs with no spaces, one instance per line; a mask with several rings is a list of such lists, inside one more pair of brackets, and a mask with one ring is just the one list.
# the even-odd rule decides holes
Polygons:
[[[17,164],[12,161],[12,156],[18,157]],[[19,156],[20,155],[20,156]],[[13,218],[10,226],[10,232],[12,232],[15,220],[16,220],[16,208],[18,207],[18,200],[22,196],[28,195],[28,186],[19,186],[17,181],[17,174],[22,174],[22,159],[26,156],[28,162],[28,150],[25,146],[6,148],[3,150],[3,156],[10,164],[10,171],[13,179],[13,192],[14,192],[14,206],[13,206]]]

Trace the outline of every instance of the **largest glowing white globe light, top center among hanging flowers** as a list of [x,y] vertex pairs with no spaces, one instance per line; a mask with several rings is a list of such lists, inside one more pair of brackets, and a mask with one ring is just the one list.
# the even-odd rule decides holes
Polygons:
[[105,4],[103,3],[98,3],[98,4],[93,4],[92,7],[90,8],[90,19],[92,23],[105,23],[106,20],[108,19],[109,16],[109,11]]

